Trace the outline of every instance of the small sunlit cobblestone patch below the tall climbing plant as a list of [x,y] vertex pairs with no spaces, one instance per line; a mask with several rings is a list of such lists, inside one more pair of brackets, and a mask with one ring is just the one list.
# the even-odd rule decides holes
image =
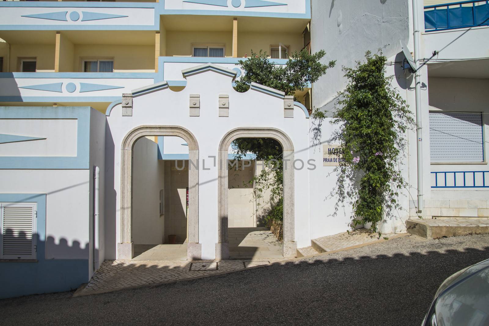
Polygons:
[[343,232],[315,239],[326,251],[340,250],[356,245],[365,245],[371,242],[395,236],[392,234],[372,233],[367,229],[358,229],[350,232]]

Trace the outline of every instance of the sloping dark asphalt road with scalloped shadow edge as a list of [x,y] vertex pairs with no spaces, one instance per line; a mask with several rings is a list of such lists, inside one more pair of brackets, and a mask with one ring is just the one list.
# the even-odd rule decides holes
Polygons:
[[170,285],[0,300],[0,324],[418,326],[446,277],[487,258],[489,235],[407,236]]

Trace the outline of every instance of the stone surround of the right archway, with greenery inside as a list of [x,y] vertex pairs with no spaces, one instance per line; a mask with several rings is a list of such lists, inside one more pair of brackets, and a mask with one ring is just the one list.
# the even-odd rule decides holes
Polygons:
[[272,138],[282,145],[284,151],[284,241],[282,252],[284,257],[295,257],[294,221],[294,146],[285,132],[267,127],[239,127],[230,130],[219,144],[219,176],[218,176],[218,243],[216,258],[229,258],[228,240],[228,149],[237,138]]

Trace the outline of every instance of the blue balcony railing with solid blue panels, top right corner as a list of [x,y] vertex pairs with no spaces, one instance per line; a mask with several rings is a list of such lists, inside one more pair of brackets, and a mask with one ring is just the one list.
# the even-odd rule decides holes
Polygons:
[[460,1],[424,7],[426,32],[489,25],[489,0]]

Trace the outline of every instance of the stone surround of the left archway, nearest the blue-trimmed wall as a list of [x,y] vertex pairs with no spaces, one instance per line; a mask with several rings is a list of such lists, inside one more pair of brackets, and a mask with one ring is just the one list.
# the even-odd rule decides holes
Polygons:
[[[121,203],[120,203],[120,243],[119,259],[133,257],[133,148],[134,143],[145,136],[177,136],[188,144],[189,161],[199,162],[199,145],[195,136],[186,128],[176,125],[141,125],[133,128],[123,139],[121,145]],[[199,170],[189,164],[189,211],[187,259],[201,258],[199,244]]]

